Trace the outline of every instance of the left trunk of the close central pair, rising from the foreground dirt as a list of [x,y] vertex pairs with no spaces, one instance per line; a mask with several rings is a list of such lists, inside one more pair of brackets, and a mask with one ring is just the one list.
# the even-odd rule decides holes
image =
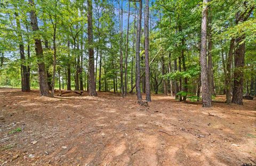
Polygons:
[[140,33],[141,33],[142,0],[140,1],[139,19],[136,40],[136,92],[138,100],[142,100],[140,91]]

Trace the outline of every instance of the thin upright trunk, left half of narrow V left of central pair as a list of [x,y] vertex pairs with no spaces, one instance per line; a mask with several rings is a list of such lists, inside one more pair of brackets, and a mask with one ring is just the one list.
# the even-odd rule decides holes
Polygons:
[[[119,2],[119,1],[118,1]],[[122,97],[124,97],[124,82],[123,82],[123,0],[121,3],[121,15],[119,28],[120,28],[120,77],[121,77],[121,93]]]

